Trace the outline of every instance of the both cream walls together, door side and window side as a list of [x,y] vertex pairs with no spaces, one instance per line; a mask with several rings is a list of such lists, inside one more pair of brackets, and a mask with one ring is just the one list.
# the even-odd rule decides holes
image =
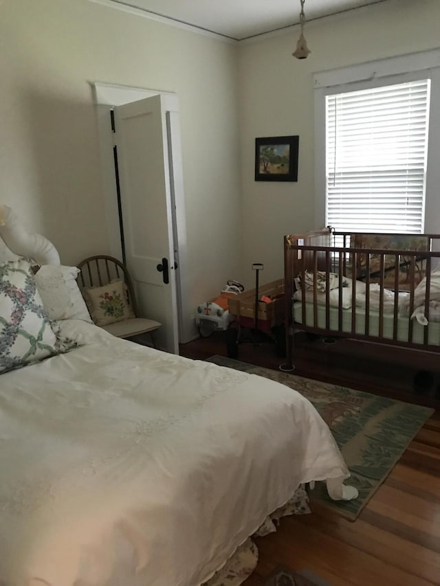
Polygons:
[[[312,54],[298,61],[297,28],[237,49],[87,0],[2,0],[0,199],[67,264],[106,252],[89,82],[175,91],[190,303],[228,278],[252,286],[252,262],[265,264],[261,279],[278,278],[283,235],[316,227],[314,72],[437,47],[439,21],[438,0],[321,19],[307,23]],[[255,182],[255,137],[286,134],[300,135],[298,183]]]

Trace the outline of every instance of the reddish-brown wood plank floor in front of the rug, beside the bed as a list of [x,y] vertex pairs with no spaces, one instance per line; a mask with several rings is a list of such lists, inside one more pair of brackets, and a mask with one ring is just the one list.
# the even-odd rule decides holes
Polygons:
[[312,515],[286,517],[278,532],[256,541],[260,561],[245,586],[263,585],[279,566],[307,568],[333,586],[440,584],[439,414],[356,521],[315,505]]

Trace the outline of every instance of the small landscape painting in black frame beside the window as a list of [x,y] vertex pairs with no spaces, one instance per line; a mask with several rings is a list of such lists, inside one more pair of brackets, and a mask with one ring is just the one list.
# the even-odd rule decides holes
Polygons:
[[298,181],[299,136],[255,139],[255,181]]

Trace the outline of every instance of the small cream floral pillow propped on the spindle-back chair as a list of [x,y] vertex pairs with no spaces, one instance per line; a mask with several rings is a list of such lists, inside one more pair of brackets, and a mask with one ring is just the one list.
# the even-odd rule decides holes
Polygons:
[[126,285],[120,279],[100,287],[85,287],[83,293],[96,326],[107,326],[135,317],[127,300]]

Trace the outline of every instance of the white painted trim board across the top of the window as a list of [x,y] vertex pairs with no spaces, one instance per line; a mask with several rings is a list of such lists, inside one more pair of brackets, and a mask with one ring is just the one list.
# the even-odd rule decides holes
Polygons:
[[314,74],[314,87],[315,89],[334,87],[345,83],[408,74],[410,71],[421,71],[423,69],[432,69],[433,67],[440,67],[440,49],[321,71]]

